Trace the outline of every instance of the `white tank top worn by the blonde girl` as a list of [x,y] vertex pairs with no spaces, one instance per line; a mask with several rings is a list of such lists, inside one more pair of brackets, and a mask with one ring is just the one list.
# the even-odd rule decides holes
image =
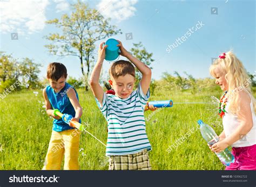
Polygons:
[[[226,104],[227,104],[225,107],[226,112],[225,112],[225,115],[223,116],[223,127],[225,131],[225,135],[227,137],[227,136],[230,136],[235,129],[237,129],[237,127],[240,125],[240,122],[237,115],[229,112],[228,101]],[[253,127],[244,137],[234,142],[231,145],[232,147],[247,147],[247,146],[253,146],[254,144],[256,144],[256,124],[255,124],[256,117],[254,113],[252,98],[251,98],[250,106],[251,106],[251,112],[252,112]]]

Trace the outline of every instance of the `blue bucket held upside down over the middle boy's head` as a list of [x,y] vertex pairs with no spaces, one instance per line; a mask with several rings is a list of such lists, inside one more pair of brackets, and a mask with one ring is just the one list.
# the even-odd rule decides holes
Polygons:
[[106,40],[105,45],[107,45],[107,48],[106,48],[105,60],[114,61],[119,57],[120,49],[117,46],[117,44],[119,43],[116,39],[110,38]]

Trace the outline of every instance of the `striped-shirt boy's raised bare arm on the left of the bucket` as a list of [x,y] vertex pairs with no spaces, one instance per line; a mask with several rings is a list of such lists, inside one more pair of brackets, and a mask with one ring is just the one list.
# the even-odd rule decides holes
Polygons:
[[107,47],[107,45],[103,47],[103,44],[104,42],[99,45],[98,60],[95,67],[92,70],[92,74],[90,77],[90,86],[91,86],[93,95],[97,98],[101,106],[102,106],[104,91],[99,84],[99,76],[100,76],[100,71],[102,70],[102,64],[105,58],[105,49]]

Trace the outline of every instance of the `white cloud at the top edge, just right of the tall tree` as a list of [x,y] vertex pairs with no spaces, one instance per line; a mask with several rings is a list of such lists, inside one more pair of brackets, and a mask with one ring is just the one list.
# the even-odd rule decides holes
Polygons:
[[97,9],[104,17],[116,19],[118,22],[135,15],[133,6],[137,0],[102,0],[97,4]]

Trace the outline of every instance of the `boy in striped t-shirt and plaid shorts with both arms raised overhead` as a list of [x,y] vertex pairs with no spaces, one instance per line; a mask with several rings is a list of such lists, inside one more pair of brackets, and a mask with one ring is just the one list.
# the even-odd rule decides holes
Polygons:
[[[106,155],[110,157],[109,170],[151,170],[147,153],[151,145],[144,118],[144,108],[150,96],[151,70],[127,52],[119,40],[118,43],[120,54],[132,63],[119,60],[110,67],[109,83],[115,95],[105,94],[99,85],[107,47],[103,46],[104,43],[99,46],[98,61],[90,78],[97,105],[107,120]],[[132,64],[142,73],[142,80],[135,91],[135,69]]]

